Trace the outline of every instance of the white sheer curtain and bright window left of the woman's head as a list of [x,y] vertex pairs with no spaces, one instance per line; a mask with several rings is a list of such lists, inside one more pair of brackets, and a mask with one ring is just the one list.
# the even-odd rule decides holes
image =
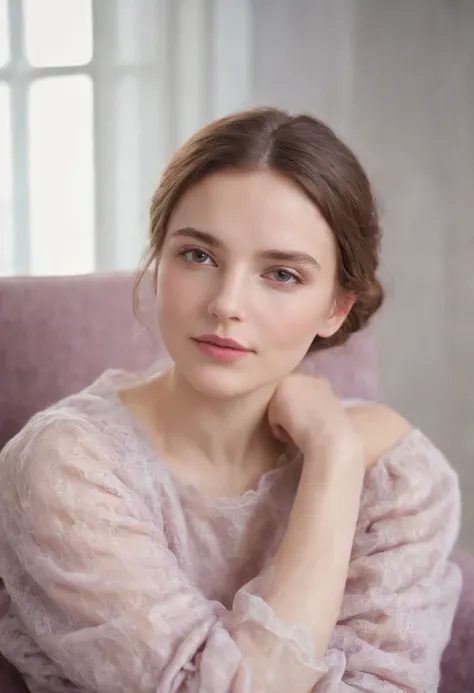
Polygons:
[[0,0],[0,274],[136,267],[150,195],[245,107],[251,0]]

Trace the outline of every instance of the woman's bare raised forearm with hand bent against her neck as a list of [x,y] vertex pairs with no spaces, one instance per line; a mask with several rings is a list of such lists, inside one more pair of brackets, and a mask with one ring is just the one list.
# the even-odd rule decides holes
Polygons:
[[[365,418],[373,419],[372,428],[379,427],[376,416]],[[329,384],[301,373],[280,383],[269,420],[275,435],[292,440],[300,449],[303,470],[266,599],[280,618],[306,626],[314,655],[322,657],[344,594],[364,475],[374,446],[367,444],[359,419],[355,425],[351,422]],[[382,438],[390,447],[406,432],[407,424],[398,422],[396,430],[393,425],[385,428]],[[367,432],[370,435],[369,428]]]

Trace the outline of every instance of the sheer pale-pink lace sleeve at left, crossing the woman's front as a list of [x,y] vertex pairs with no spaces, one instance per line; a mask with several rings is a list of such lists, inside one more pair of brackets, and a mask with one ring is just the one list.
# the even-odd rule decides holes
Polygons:
[[135,487],[83,422],[29,426],[2,455],[0,570],[41,656],[94,693],[310,691],[325,667],[306,635],[252,586],[226,611],[188,584]]

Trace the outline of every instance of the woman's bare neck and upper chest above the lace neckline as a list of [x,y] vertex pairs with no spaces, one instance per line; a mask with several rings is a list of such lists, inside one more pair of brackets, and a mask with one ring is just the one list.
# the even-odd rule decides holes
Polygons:
[[273,390],[227,400],[206,397],[173,367],[135,390],[129,401],[140,401],[139,417],[153,429],[166,459],[246,475],[256,468],[267,471],[282,452],[267,420]]

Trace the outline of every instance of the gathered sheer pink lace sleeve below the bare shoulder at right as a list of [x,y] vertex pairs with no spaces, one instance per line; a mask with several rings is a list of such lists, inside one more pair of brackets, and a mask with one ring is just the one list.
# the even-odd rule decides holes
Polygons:
[[366,477],[339,623],[315,691],[435,693],[461,576],[458,480],[413,430]]

